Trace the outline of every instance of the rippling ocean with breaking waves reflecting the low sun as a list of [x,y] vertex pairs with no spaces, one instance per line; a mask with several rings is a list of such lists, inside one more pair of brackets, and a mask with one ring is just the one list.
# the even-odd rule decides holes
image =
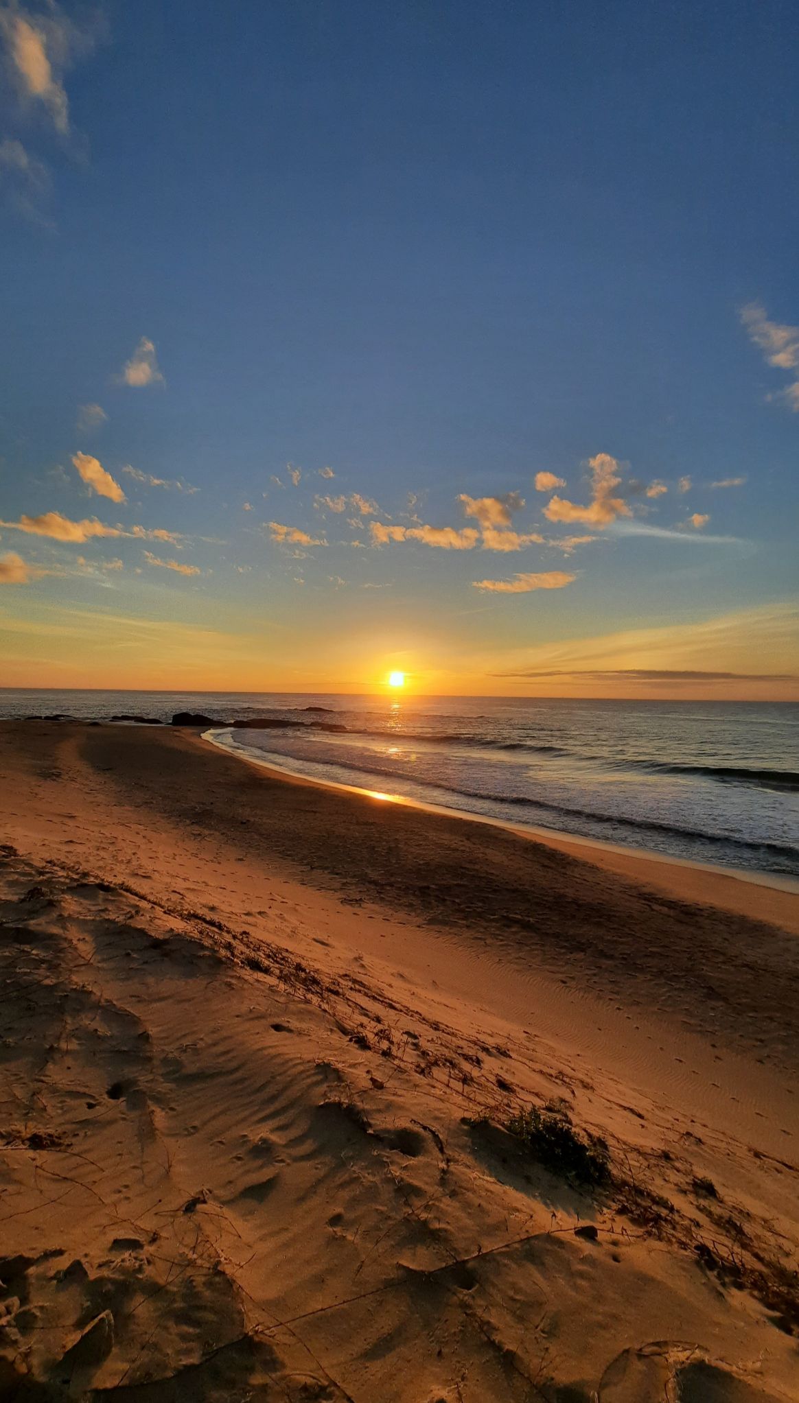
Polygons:
[[799,878],[796,703],[0,690],[0,718],[181,710],[278,723],[215,735],[295,774]]

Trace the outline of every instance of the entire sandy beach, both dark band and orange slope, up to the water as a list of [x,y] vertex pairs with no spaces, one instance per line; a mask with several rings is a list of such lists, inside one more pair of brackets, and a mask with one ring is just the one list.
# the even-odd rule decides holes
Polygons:
[[0,783],[0,1399],[796,1396],[799,897],[169,727]]

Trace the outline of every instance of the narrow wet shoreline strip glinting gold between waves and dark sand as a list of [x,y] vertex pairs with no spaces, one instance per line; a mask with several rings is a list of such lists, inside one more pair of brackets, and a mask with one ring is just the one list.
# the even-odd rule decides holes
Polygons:
[[[232,755],[236,759],[243,760],[246,765],[254,765],[257,769],[267,770],[281,779],[288,779],[298,784],[319,786],[320,788],[338,790],[344,794],[359,794],[364,798],[397,804],[403,808],[418,810],[423,814],[440,814],[449,818],[459,818],[469,824],[489,824],[491,828],[500,828],[510,833],[517,833],[520,838],[546,843],[549,847],[562,849],[564,852],[570,852],[573,847],[586,847],[595,850],[597,854],[604,854],[605,857],[615,856],[623,859],[625,863],[632,866],[638,863],[645,866],[652,863],[661,864],[666,868],[681,867],[687,871],[709,873],[716,877],[730,878],[732,881],[743,881],[754,887],[767,887],[772,891],[781,891],[792,897],[799,897],[799,878],[784,875],[781,873],[768,873],[748,867],[725,867],[719,863],[702,863],[698,859],[675,857],[670,853],[659,853],[649,847],[632,847],[623,843],[611,843],[602,840],[601,838],[586,838],[581,833],[566,833],[560,829],[545,828],[543,825],[514,824],[511,819],[493,818],[490,814],[475,814],[466,808],[458,808],[456,805],[449,807],[445,804],[425,803],[424,800],[413,798],[407,794],[389,794],[382,790],[367,788],[362,784],[345,784],[343,780],[326,780],[313,774],[301,774],[298,770],[292,770],[288,765],[281,765],[274,759],[260,759],[257,755],[247,755],[243,749],[239,749],[235,745],[226,745],[222,737],[227,734],[227,728],[209,728],[208,731],[199,732],[202,741],[213,745],[225,755]],[[621,867],[618,870],[621,871]]]

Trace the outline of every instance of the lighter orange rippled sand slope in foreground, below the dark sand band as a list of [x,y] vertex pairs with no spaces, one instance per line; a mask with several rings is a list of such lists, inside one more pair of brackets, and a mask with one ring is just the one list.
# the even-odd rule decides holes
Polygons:
[[[778,1070],[723,1051],[753,1099],[685,1108],[722,1058],[694,1033],[685,1093],[640,1007],[587,1056],[598,1005],[562,988],[560,1017],[546,971],[522,1020],[452,932],[204,863],[70,744],[6,790],[0,1399],[795,1397]],[[503,1129],[553,1097],[608,1138],[605,1188]]]

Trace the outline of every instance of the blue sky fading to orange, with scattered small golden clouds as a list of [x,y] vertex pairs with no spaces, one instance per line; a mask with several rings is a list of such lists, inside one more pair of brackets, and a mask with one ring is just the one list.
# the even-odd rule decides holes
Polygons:
[[799,700],[798,67],[0,0],[0,686]]

